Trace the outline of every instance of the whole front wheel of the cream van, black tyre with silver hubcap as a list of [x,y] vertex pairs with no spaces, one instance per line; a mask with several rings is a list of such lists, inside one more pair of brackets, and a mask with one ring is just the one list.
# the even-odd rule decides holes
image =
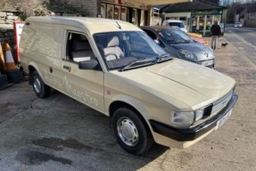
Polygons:
[[111,125],[120,146],[133,154],[146,153],[153,145],[153,136],[143,120],[127,108],[116,110]]

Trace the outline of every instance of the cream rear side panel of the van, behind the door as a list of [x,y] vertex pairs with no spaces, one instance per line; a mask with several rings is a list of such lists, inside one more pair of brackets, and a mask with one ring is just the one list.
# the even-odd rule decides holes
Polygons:
[[55,71],[61,69],[62,55],[64,55],[64,29],[55,24],[29,22],[21,35],[21,65],[29,72],[32,65],[42,77],[51,67]]

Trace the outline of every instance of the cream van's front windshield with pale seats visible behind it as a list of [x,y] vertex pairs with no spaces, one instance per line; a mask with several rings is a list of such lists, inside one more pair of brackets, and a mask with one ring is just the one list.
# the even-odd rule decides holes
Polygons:
[[161,46],[143,31],[99,33],[94,37],[108,69],[142,67],[155,64],[162,56],[166,57]]

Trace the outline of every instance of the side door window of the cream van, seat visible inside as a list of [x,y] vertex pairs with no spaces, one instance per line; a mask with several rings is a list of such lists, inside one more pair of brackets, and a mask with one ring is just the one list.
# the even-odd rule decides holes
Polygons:
[[67,59],[70,61],[88,61],[95,58],[91,45],[85,35],[69,33],[67,40]]

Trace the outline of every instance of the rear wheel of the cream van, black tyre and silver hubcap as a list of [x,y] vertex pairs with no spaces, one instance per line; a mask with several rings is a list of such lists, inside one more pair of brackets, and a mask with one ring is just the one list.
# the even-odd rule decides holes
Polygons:
[[38,97],[45,98],[50,95],[51,87],[49,85],[45,85],[44,81],[37,73],[37,70],[35,70],[32,73],[31,79],[32,79],[33,90]]

